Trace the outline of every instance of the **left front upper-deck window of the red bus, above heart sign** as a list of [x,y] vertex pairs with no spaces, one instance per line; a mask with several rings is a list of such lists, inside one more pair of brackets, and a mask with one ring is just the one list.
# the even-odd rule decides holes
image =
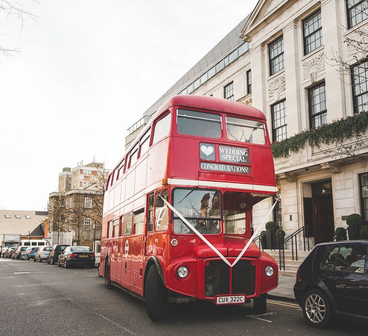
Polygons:
[[177,124],[180,134],[221,138],[221,116],[218,114],[178,109]]

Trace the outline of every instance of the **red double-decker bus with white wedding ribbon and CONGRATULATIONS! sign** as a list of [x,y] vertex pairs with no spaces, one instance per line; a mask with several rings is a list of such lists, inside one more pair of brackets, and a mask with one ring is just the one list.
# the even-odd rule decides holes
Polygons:
[[197,299],[264,312],[278,267],[250,242],[251,210],[276,190],[262,112],[175,96],[109,176],[99,275],[144,298],[152,320]]

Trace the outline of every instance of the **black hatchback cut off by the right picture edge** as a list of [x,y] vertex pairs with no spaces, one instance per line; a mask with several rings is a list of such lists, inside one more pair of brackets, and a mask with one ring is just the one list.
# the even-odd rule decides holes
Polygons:
[[309,325],[334,317],[368,322],[368,240],[319,244],[300,265],[295,298]]

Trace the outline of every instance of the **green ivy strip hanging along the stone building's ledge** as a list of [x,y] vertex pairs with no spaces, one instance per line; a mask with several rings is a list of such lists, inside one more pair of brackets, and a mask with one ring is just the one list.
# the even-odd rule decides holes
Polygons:
[[[361,147],[363,144],[361,136],[367,128],[368,112],[361,112],[319,128],[303,130],[291,138],[275,142],[272,144],[272,152],[274,158],[287,158],[290,152],[297,153],[305,144],[310,147],[335,144],[338,147],[343,146],[344,141],[352,138],[356,139],[355,147]],[[334,151],[330,151],[332,152]]]

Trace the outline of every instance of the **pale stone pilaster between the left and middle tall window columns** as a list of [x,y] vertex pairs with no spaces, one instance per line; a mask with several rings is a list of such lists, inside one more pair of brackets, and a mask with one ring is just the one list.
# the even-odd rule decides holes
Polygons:
[[296,21],[283,27],[284,62],[286,86],[287,135],[292,137],[301,131],[300,82],[299,82],[299,50]]

